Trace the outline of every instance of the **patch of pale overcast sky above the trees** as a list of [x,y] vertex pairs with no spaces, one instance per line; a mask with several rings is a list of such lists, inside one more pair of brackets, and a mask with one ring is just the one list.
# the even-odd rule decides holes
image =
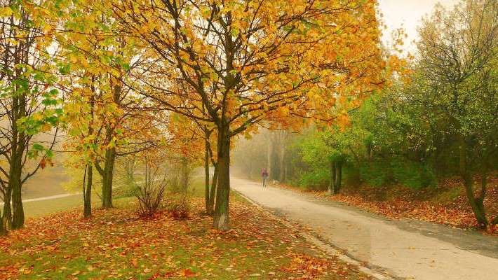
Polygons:
[[403,50],[414,52],[415,44],[412,41],[417,39],[417,27],[422,18],[432,13],[436,3],[452,8],[458,2],[459,0],[379,0],[379,9],[387,26],[383,34],[384,43],[390,41],[393,30],[402,27],[408,34]]

